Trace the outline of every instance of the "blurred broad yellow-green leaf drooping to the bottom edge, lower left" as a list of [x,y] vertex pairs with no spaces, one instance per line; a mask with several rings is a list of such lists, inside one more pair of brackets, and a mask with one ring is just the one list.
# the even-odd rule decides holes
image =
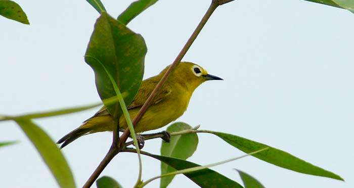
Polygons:
[[49,135],[28,119],[19,118],[15,121],[31,140],[43,161],[56,178],[59,186],[68,188],[75,187],[74,178],[69,165]]

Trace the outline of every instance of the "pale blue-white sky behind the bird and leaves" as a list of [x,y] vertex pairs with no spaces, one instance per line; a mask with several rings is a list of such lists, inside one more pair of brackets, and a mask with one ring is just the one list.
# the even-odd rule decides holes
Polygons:
[[[99,16],[86,1],[16,1],[31,25],[0,17],[0,114],[58,109],[100,101],[94,73],[84,63]],[[103,1],[117,17],[132,1]],[[179,53],[210,1],[159,1],[128,27],[148,46],[144,78],[159,73]],[[201,129],[228,132],[287,151],[341,175],[346,182],[300,174],[253,157],[212,169],[241,182],[237,168],[266,187],[354,187],[354,14],[300,0],[235,1],[219,7],[183,60],[225,81],[194,92],[178,119]],[[35,120],[54,140],[98,109]],[[165,129],[162,128],[161,130]],[[2,187],[57,187],[48,167],[14,122],[1,122],[0,140],[20,143],[0,149]],[[63,153],[78,187],[111,144],[111,133],[81,137]],[[145,144],[159,154],[160,139]],[[199,134],[189,158],[209,164],[243,153],[213,135]],[[102,175],[132,187],[135,154],[119,154]],[[160,162],[143,157],[143,179],[160,173]],[[158,187],[159,181],[147,187]],[[197,187],[184,175],[169,187]]]

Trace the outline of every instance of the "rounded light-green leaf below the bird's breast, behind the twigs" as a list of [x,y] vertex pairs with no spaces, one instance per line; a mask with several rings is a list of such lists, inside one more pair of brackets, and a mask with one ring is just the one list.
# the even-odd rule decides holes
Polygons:
[[[183,122],[176,122],[167,128],[167,132],[176,132],[192,129],[190,125]],[[182,134],[171,137],[170,143],[162,142],[161,155],[186,160],[193,155],[198,146],[197,133]],[[175,169],[161,162],[161,174],[173,172]],[[172,181],[173,175],[162,177],[160,187],[167,187]]]

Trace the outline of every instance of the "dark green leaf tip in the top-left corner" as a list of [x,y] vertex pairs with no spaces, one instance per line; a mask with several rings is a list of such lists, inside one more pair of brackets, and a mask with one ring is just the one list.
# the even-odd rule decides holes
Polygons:
[[26,13],[13,1],[0,0],[0,15],[29,25]]

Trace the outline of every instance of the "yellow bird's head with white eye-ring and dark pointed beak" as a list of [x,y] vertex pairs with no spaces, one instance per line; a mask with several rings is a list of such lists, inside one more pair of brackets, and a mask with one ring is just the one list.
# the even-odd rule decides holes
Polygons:
[[[169,67],[169,66],[168,66]],[[167,68],[165,70],[167,70]],[[165,72],[165,71],[163,71]],[[173,71],[171,80],[186,85],[191,91],[208,80],[223,80],[217,76],[208,74],[201,66],[191,62],[181,62]]]

